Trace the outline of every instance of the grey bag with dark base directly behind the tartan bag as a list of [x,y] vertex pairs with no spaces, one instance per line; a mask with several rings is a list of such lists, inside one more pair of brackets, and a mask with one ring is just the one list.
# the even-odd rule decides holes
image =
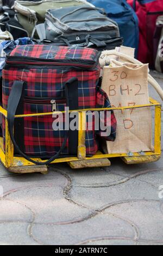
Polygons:
[[122,45],[116,22],[87,4],[48,10],[45,29],[47,40],[61,40],[67,45],[97,50],[111,50]]

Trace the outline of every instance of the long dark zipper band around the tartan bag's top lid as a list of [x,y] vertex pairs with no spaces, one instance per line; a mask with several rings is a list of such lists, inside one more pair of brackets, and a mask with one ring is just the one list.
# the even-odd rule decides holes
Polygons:
[[[97,58],[97,57],[96,57]],[[39,59],[23,56],[9,56],[7,55],[7,64],[27,64],[27,65],[55,65],[55,66],[80,66],[81,68],[92,68],[98,62],[98,58],[95,60],[80,60],[80,59]]]

